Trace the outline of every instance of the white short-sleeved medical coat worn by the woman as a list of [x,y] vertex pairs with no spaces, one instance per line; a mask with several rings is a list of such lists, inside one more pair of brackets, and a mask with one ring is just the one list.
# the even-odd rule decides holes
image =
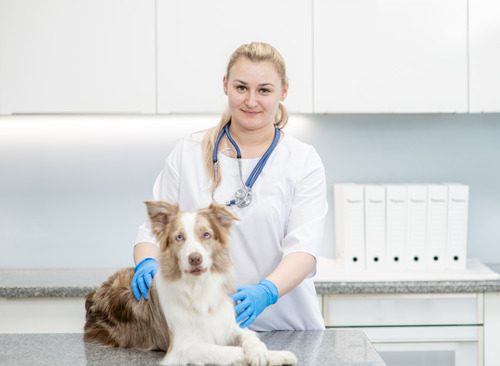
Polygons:
[[[195,211],[212,202],[210,180],[201,150],[203,133],[181,140],[165,160],[156,179],[153,198],[178,202]],[[219,153],[222,182],[215,200],[224,203],[241,188],[237,160]],[[242,159],[246,181],[259,159]],[[289,253],[317,256],[328,210],[324,167],[316,150],[284,135],[253,186],[253,201],[245,208],[231,206],[239,217],[231,231],[231,255],[236,285],[256,284]],[[156,239],[146,221],[136,243]],[[324,329],[312,276],[266,308],[250,326],[256,331]]]

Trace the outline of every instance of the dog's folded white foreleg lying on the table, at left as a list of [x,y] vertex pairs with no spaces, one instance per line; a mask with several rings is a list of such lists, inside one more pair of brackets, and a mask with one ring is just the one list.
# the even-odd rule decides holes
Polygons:
[[161,365],[246,365],[241,347],[194,343],[189,347],[172,347]]

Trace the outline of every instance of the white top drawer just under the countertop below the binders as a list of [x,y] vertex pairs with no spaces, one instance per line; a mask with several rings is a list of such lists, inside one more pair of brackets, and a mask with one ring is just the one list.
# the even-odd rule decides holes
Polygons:
[[324,295],[325,325],[482,325],[482,294]]

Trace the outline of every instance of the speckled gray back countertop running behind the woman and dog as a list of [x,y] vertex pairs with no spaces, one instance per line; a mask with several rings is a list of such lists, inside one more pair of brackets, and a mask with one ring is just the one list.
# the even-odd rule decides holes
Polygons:
[[[398,280],[394,274],[389,279],[376,280],[373,275],[345,277],[323,272],[316,280],[316,291],[326,294],[376,294],[376,293],[476,293],[500,292],[500,265],[482,265],[482,272],[453,278],[439,276],[418,280],[406,276]],[[116,269],[0,269],[0,297],[83,297],[99,286]],[[487,272],[490,273],[487,273]],[[370,278],[371,277],[371,278]],[[374,279],[375,278],[375,279]],[[451,279],[450,279],[451,278]]]

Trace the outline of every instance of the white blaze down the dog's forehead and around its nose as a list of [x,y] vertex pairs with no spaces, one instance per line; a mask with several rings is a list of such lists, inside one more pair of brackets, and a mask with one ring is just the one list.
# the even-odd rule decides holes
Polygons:
[[181,216],[181,224],[184,228],[185,243],[180,251],[180,262],[182,270],[189,270],[189,255],[192,253],[199,253],[202,257],[203,268],[210,268],[212,266],[211,256],[205,247],[200,243],[196,233],[196,219],[197,214],[194,212],[184,212]]

